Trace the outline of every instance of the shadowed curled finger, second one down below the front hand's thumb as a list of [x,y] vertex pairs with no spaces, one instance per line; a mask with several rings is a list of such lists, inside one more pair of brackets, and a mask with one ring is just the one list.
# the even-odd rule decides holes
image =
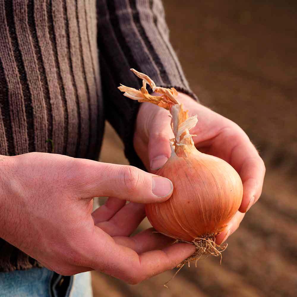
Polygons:
[[146,217],[143,204],[130,202],[109,221],[96,224],[110,236],[129,236]]

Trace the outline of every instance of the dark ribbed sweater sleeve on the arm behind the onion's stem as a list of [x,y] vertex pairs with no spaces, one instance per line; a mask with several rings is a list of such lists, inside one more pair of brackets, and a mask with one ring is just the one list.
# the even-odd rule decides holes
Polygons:
[[143,168],[133,148],[140,103],[117,89],[120,83],[139,89],[142,82],[129,70],[149,75],[157,86],[175,87],[191,95],[169,41],[160,0],[99,0],[98,48],[106,119],[124,142],[131,165]]

